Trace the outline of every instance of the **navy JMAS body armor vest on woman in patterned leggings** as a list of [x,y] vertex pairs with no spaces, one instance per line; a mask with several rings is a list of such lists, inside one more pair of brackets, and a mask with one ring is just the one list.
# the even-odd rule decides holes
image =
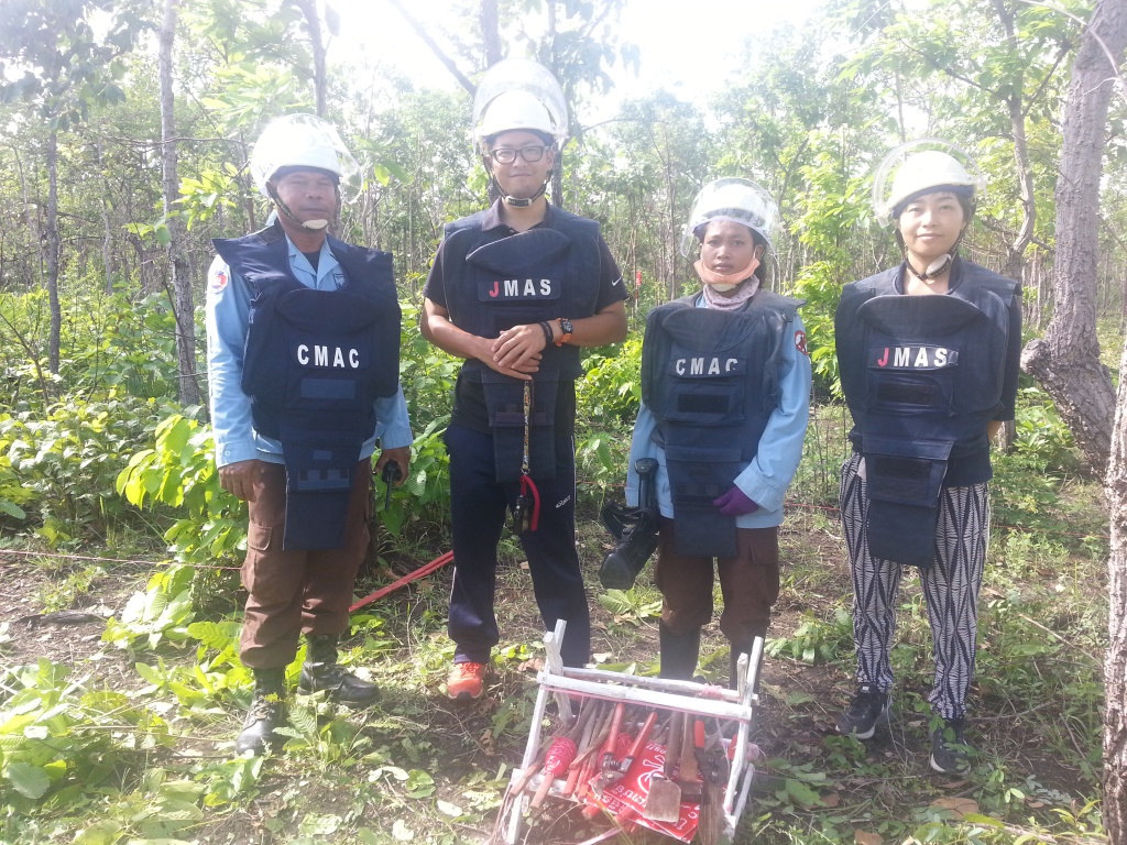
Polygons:
[[838,358],[864,455],[869,550],[929,566],[948,461],[987,446],[1002,403],[1017,283],[961,261],[949,294],[906,296],[899,274],[846,285]]

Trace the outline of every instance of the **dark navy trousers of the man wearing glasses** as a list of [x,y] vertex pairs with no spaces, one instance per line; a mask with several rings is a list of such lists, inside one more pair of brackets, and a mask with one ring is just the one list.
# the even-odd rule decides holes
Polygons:
[[[455,662],[488,662],[499,641],[494,599],[497,543],[520,484],[499,484],[492,437],[462,426],[446,429],[450,454],[451,523],[454,585],[450,595],[450,639]],[[521,535],[544,630],[567,621],[562,657],[567,666],[591,659],[591,615],[575,548],[575,443],[556,444],[556,478],[536,479],[540,523]]]

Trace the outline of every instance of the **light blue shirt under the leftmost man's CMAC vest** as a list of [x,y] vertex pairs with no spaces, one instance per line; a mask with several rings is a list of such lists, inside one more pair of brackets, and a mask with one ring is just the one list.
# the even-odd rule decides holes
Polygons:
[[[345,282],[344,269],[321,243],[314,270],[309,259],[286,238],[290,269],[294,277],[316,291],[334,291]],[[247,345],[250,315],[250,285],[219,256],[207,272],[207,382],[211,389],[212,432],[215,438],[215,464],[225,466],[258,459],[285,463],[282,444],[255,430],[250,417],[250,397],[242,392],[242,356]],[[399,388],[393,397],[375,400],[375,433],[361,447],[357,460],[371,457],[375,442],[381,448],[410,446],[410,420],[407,401]]]

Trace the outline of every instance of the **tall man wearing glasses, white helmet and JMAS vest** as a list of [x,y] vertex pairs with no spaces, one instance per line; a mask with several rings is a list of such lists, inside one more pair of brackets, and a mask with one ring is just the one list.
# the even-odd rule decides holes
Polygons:
[[423,336],[465,358],[446,429],[454,585],[451,699],[485,692],[497,543],[506,508],[529,560],[547,630],[567,621],[565,664],[591,653],[591,624],[575,546],[575,380],[580,346],[627,335],[622,274],[592,220],[544,192],[567,108],[544,68],[506,60],[482,78],[474,140],[499,198],[447,224],[424,290]]

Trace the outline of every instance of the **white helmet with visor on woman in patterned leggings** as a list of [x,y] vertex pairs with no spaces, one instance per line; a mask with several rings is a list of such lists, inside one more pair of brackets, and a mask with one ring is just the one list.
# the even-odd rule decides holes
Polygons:
[[986,177],[974,159],[953,144],[933,137],[909,141],[888,153],[877,168],[872,210],[877,220],[887,224],[899,216],[908,199],[943,187],[961,189],[973,198],[986,187]]

